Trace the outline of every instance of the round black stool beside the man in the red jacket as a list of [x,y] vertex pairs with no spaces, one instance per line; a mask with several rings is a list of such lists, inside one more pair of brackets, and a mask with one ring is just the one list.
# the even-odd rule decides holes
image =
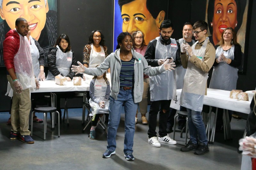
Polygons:
[[[34,111],[31,113],[31,135],[33,136],[33,113],[44,113],[44,140],[45,140],[45,134],[46,134],[46,127],[47,127],[47,113],[54,113],[56,112],[58,114],[58,137],[60,137],[60,113],[57,111],[56,107],[36,107],[34,108]],[[52,116],[53,117],[53,116]],[[52,121],[53,123],[53,121]],[[53,129],[53,128],[52,128]]]

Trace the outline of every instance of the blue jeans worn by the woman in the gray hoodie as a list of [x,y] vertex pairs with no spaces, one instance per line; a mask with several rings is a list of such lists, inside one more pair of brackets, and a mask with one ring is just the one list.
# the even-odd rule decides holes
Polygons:
[[133,90],[120,89],[117,100],[110,96],[108,117],[108,146],[107,149],[116,150],[116,132],[120,122],[121,109],[124,104],[125,130],[124,130],[124,153],[132,153],[133,137],[135,132],[135,115],[139,103],[134,103]]

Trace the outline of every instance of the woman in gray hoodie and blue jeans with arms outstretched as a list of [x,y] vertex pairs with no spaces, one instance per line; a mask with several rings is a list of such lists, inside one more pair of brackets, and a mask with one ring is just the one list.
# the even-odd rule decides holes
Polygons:
[[166,70],[174,70],[173,67],[175,65],[167,59],[159,67],[148,66],[148,62],[143,55],[132,48],[132,36],[127,32],[118,35],[117,43],[116,51],[108,55],[98,67],[89,69],[84,67],[82,63],[77,62],[79,66],[72,66],[73,68],[71,69],[77,72],[76,74],[85,73],[99,76],[110,68],[112,86],[109,102],[108,146],[102,157],[109,158],[116,153],[116,132],[120,122],[121,108],[124,104],[124,157],[126,160],[134,160],[132,155],[135,132],[134,122],[138,103],[142,100],[143,73],[148,76],[154,76]]

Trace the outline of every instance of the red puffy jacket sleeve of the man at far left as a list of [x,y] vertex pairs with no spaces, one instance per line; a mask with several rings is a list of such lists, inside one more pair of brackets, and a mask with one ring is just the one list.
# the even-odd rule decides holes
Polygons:
[[[20,35],[16,30],[10,30],[5,35],[3,43],[4,65],[7,70],[14,69],[13,59],[20,48]],[[14,69],[15,71],[15,69]]]

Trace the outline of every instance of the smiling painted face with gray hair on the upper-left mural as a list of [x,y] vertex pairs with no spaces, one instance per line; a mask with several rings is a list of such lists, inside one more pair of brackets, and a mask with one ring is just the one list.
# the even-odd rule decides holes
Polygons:
[[31,29],[31,36],[38,40],[48,11],[48,2],[44,0],[3,0],[0,16],[6,20],[11,29],[15,28],[17,18],[26,19]]

